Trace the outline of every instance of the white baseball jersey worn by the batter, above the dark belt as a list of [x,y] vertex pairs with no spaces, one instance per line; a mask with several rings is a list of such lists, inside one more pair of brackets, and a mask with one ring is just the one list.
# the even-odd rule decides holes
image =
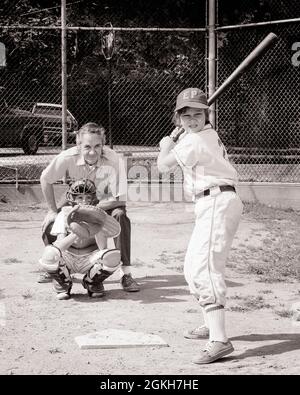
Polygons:
[[198,133],[186,133],[172,152],[182,168],[185,191],[192,197],[213,186],[237,184],[237,172],[210,125]]

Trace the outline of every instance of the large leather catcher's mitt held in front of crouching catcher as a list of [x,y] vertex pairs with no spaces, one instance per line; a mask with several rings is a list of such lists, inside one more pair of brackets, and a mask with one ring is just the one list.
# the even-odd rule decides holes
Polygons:
[[67,216],[70,230],[80,238],[95,236],[100,231],[106,237],[116,237],[120,233],[119,223],[97,206],[77,205]]

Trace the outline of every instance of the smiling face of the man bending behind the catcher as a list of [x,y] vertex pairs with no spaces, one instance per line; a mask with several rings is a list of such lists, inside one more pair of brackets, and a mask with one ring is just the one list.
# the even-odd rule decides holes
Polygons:
[[79,144],[86,163],[97,163],[102,154],[103,138],[98,134],[83,133],[79,136]]

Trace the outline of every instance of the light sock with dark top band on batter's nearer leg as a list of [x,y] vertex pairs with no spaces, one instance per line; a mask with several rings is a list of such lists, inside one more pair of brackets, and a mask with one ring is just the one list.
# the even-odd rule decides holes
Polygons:
[[219,304],[204,306],[206,318],[209,324],[209,341],[226,343],[228,337],[225,331],[225,310]]

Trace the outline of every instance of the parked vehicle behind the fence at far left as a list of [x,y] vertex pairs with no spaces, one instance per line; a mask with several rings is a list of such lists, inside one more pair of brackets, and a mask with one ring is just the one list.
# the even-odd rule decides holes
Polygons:
[[[3,95],[2,95],[3,96]],[[67,143],[76,141],[78,122],[67,110]],[[41,145],[61,145],[62,106],[35,103],[31,111],[11,107],[0,98],[0,147],[21,147],[33,155]]]

